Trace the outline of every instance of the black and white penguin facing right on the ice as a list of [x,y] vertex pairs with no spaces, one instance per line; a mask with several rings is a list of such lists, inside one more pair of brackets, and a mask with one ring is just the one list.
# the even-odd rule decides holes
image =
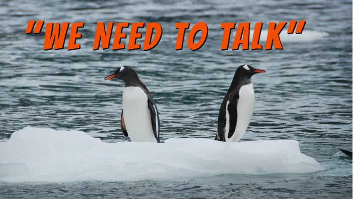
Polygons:
[[251,77],[257,73],[265,73],[265,70],[247,64],[237,68],[220,106],[215,140],[237,142],[245,134],[255,107]]

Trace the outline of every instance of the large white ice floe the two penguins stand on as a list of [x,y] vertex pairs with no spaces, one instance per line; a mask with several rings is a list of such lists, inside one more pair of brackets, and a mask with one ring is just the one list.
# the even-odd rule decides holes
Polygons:
[[0,142],[0,181],[143,180],[323,171],[296,140],[172,138],[106,143],[77,130],[25,127]]

